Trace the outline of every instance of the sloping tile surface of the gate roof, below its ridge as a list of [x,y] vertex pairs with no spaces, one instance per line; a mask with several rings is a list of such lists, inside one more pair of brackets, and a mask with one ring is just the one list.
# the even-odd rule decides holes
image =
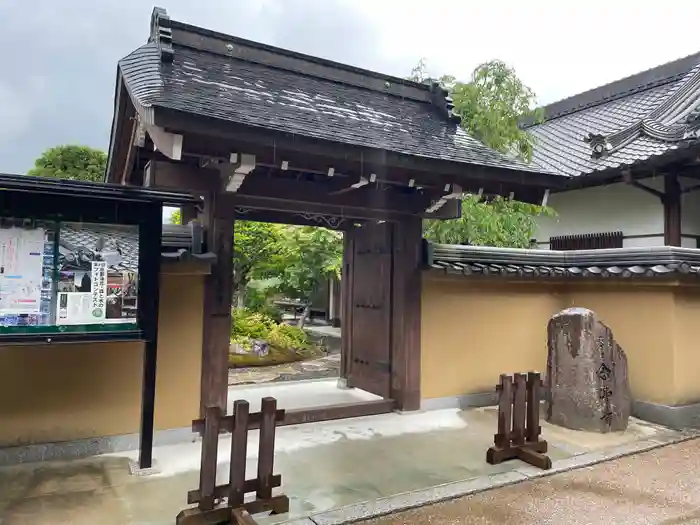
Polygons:
[[119,62],[137,108],[163,107],[438,160],[548,171],[486,147],[430,102],[193,49],[176,41],[172,47],[172,62],[161,61],[156,42]]

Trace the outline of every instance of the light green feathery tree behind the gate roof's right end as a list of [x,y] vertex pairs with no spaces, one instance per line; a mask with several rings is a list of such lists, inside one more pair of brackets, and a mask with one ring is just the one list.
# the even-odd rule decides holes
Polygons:
[[[430,77],[421,59],[409,77],[425,82]],[[492,149],[512,154],[525,162],[532,159],[534,137],[521,129],[524,117],[542,119],[535,93],[518,78],[515,70],[500,60],[480,64],[469,82],[443,75],[437,81],[454,102],[462,117],[461,126]],[[462,216],[453,220],[426,220],[427,239],[445,244],[473,244],[526,248],[535,233],[537,217],[552,215],[549,208],[496,198],[489,202],[475,195],[462,200]]]

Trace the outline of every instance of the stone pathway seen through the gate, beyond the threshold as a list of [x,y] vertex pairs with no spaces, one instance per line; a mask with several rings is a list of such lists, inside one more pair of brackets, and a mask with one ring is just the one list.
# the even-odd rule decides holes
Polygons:
[[339,374],[340,354],[333,354],[284,365],[231,368],[228,373],[228,384],[233,386],[323,379],[338,377]]

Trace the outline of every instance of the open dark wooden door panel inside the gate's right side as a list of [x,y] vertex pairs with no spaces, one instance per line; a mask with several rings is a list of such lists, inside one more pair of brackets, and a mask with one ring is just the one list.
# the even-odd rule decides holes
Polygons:
[[390,398],[392,225],[364,224],[348,233],[352,239],[346,246],[352,254],[347,384]]

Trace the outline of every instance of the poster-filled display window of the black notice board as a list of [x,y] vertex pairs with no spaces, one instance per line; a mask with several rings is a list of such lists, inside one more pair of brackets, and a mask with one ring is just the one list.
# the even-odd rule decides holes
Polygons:
[[0,226],[0,334],[136,325],[137,226],[15,222]]

